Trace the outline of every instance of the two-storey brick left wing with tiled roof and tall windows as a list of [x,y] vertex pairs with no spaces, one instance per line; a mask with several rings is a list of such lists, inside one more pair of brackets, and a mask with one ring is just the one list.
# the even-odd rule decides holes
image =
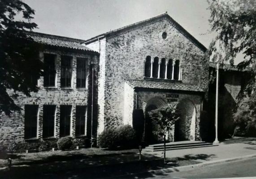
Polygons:
[[36,81],[37,93],[20,94],[15,101],[21,113],[1,114],[0,144],[7,148],[15,144],[15,150],[43,150],[56,147],[60,137],[70,136],[79,145],[84,136],[91,135],[91,111],[97,116],[91,101],[97,101],[99,53],[78,39],[41,33],[29,36],[44,45],[39,52],[44,76]]

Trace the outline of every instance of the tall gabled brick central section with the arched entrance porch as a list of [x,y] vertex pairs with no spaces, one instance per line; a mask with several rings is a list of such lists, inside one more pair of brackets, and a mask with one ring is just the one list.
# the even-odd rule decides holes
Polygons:
[[98,133],[132,125],[134,109],[147,115],[176,101],[182,119],[172,140],[200,140],[206,48],[174,19],[165,13],[84,43],[100,53]]

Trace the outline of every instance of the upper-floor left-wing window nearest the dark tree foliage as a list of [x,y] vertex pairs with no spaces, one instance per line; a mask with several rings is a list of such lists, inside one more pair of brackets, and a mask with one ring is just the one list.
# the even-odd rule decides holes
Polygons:
[[44,76],[43,85],[44,86],[55,86],[55,57],[53,54],[44,54]]

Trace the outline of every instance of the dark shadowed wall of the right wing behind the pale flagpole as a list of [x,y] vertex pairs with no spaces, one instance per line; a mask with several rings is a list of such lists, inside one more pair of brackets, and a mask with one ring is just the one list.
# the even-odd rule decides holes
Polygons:
[[[214,68],[210,68],[214,70]],[[237,104],[238,95],[246,84],[245,72],[220,70],[219,78],[219,102],[218,102],[218,132],[220,140],[230,137],[234,133],[233,112]],[[209,83],[208,116],[211,121],[215,118],[216,81]],[[209,131],[212,138],[215,137],[214,124]]]

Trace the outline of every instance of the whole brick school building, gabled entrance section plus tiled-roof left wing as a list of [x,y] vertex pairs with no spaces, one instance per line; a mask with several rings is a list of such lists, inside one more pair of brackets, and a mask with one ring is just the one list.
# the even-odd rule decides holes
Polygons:
[[[38,93],[16,100],[21,114],[1,114],[2,146],[50,148],[62,136],[84,145],[86,137],[105,128],[137,128],[144,120],[145,129],[139,130],[154,142],[159,140],[153,134],[157,126],[148,111],[172,102],[178,104],[181,119],[169,132],[170,141],[204,140],[202,133],[214,137],[208,132],[214,120],[201,116],[204,110],[214,111],[208,107],[214,102],[214,86],[209,85],[213,64],[204,56],[207,49],[167,13],[88,40],[29,35],[45,47],[39,55],[46,73],[37,82]],[[233,99],[241,86],[234,74],[225,76]]]

